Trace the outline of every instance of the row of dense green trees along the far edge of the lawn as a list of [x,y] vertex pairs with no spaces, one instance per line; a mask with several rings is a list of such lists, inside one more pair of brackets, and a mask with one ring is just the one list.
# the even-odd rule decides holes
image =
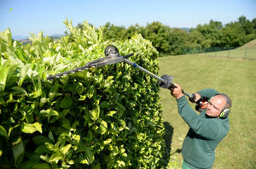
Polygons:
[[[77,27],[84,29],[82,24]],[[150,40],[160,54],[186,54],[209,48],[237,48],[252,41],[256,38],[256,18],[247,20],[245,16],[240,16],[237,21],[226,25],[210,20],[208,24],[187,30],[172,28],[159,21],[146,26],[131,25],[128,28],[108,22],[102,29],[104,40],[125,40],[139,33]]]

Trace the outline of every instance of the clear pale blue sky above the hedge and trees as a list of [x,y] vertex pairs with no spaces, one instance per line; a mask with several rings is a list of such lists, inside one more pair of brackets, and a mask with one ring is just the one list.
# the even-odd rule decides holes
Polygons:
[[108,21],[125,27],[160,21],[190,28],[210,20],[230,23],[241,15],[256,18],[256,0],[0,0],[0,31],[63,34],[66,18],[73,25],[87,20],[96,27]]

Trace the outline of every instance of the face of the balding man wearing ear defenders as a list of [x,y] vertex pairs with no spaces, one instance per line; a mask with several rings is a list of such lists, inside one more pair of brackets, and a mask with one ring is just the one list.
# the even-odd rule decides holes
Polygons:
[[207,115],[211,117],[218,117],[220,112],[224,110],[226,100],[223,96],[217,95],[207,105]]

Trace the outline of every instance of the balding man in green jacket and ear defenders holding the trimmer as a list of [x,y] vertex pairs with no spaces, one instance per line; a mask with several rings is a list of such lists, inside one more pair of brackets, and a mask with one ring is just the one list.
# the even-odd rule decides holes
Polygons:
[[195,93],[195,101],[208,99],[207,109],[200,115],[189,106],[182,88],[175,84],[172,96],[177,99],[178,113],[189,125],[189,132],[183,142],[183,168],[212,168],[215,149],[229,132],[231,100],[214,89],[205,89]]

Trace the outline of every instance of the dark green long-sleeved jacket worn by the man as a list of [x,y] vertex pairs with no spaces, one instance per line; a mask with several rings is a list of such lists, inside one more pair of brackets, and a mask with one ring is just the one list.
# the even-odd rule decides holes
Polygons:
[[[211,99],[218,92],[205,89],[197,92],[201,97]],[[220,119],[207,116],[206,110],[200,115],[189,106],[185,96],[177,99],[178,113],[189,125],[189,132],[183,142],[183,160],[190,168],[212,168],[215,149],[230,129],[229,118]]]

